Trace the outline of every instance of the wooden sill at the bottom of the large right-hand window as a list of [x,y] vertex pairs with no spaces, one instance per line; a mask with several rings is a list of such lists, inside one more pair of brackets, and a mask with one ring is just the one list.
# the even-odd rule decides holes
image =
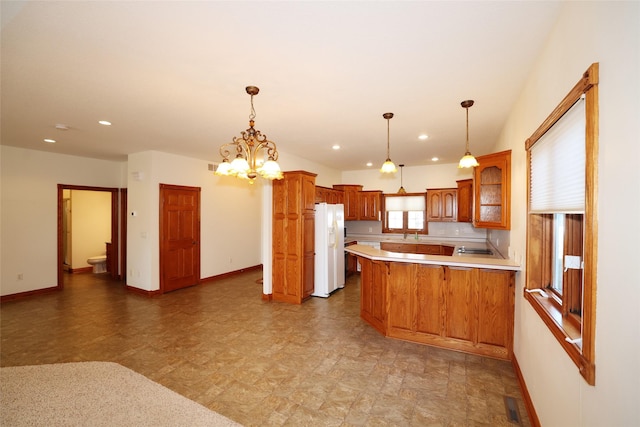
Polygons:
[[539,293],[524,291],[524,298],[529,301],[533,309],[538,313],[542,321],[547,325],[551,333],[558,340],[560,346],[567,352],[573,363],[576,364],[580,375],[591,385],[595,384],[595,366],[582,355],[580,341],[580,329],[576,328],[568,319],[562,316],[551,296],[543,296]]

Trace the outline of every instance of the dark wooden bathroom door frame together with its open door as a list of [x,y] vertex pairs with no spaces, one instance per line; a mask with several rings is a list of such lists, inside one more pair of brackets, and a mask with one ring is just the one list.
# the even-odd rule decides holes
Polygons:
[[[105,187],[88,187],[80,185],[65,185],[58,184],[58,284],[59,289],[64,288],[64,270],[65,262],[68,262],[68,200],[65,200],[65,190],[84,190],[84,191],[98,191],[108,192],[111,195],[111,232],[110,232],[110,244],[106,245],[107,259],[109,265],[107,270],[112,278],[116,280],[123,279],[123,260],[126,259],[126,234],[119,233],[118,230],[122,230],[126,225],[126,190],[120,190],[118,188],[105,188]],[[124,204],[125,210],[119,209]]]

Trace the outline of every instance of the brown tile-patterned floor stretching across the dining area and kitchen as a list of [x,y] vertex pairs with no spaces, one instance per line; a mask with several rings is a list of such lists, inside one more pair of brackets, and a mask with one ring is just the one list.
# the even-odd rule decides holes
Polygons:
[[384,338],[359,277],[328,299],[262,301],[261,272],[146,298],[105,275],[1,305],[2,366],[120,363],[246,426],[514,426],[509,362]]

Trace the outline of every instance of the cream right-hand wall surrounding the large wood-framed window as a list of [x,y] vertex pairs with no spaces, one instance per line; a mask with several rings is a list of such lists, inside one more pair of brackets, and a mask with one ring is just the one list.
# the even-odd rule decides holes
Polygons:
[[565,3],[495,146],[513,149],[511,245],[524,254],[524,142],[600,63],[595,386],[523,299],[517,278],[514,350],[543,426],[640,425],[639,28],[638,2]]

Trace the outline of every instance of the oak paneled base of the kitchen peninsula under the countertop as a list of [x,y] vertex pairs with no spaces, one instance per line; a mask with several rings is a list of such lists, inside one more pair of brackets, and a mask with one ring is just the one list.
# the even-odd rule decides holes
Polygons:
[[[386,324],[381,330],[379,320],[376,325],[369,322],[378,331],[392,338],[511,359],[515,301],[512,271],[384,264],[386,277],[380,269],[378,277],[361,279],[363,289],[375,288],[374,284],[365,286],[365,282],[376,279],[387,289],[386,300],[382,300],[388,308]],[[376,302],[368,305],[375,306]]]

